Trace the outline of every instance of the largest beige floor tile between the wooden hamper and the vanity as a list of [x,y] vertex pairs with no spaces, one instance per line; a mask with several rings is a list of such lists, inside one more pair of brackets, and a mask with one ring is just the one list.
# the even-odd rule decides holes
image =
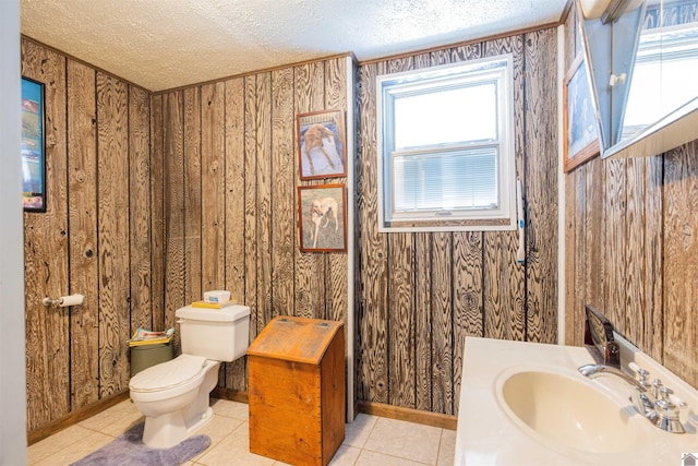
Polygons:
[[378,418],[364,449],[435,465],[440,441],[440,428]]

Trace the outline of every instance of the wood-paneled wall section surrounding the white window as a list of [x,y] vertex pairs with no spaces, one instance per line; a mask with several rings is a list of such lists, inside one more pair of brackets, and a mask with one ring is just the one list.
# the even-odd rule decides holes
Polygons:
[[[514,56],[516,167],[527,203],[516,231],[380,234],[375,77]],[[357,170],[359,399],[457,414],[467,335],[557,340],[557,33],[555,28],[364,63]]]

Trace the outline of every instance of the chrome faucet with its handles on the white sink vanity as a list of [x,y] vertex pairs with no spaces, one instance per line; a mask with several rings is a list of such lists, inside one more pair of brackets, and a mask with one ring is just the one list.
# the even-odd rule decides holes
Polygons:
[[637,368],[637,372],[640,375],[639,381],[619,369],[604,365],[582,366],[579,368],[579,372],[589,379],[604,374],[616,375],[623,379],[635,389],[630,396],[630,402],[633,402],[635,410],[659,429],[672,433],[685,432],[678,419],[678,411],[681,407],[685,406],[685,403],[676,406],[670,398],[672,391],[662,386],[661,381],[658,379],[654,380],[653,386],[650,386],[647,382],[648,372],[646,370]]

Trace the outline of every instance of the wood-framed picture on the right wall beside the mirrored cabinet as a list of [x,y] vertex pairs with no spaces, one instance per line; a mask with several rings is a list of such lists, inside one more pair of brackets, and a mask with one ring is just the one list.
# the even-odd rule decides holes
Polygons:
[[565,75],[563,87],[563,151],[565,172],[600,153],[599,127],[583,52]]

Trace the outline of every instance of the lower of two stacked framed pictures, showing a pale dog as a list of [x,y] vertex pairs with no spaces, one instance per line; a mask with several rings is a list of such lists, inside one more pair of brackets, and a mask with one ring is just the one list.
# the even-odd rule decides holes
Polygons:
[[344,184],[298,187],[300,250],[347,251],[347,190]]

